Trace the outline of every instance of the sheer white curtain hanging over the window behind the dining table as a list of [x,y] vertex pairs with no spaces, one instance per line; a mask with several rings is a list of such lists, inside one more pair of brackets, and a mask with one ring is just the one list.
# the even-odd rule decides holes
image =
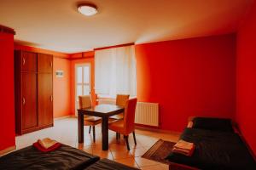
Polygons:
[[95,90],[102,97],[116,94],[136,96],[136,58],[134,46],[96,50]]

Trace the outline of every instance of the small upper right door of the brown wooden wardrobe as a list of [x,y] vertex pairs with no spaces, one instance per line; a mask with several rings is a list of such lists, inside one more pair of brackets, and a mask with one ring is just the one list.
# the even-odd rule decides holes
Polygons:
[[38,54],[38,72],[52,73],[53,56],[49,54]]

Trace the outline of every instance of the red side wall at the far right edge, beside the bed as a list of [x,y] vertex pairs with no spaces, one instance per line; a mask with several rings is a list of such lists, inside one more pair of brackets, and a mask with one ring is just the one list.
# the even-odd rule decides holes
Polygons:
[[256,155],[256,3],[237,33],[236,121]]

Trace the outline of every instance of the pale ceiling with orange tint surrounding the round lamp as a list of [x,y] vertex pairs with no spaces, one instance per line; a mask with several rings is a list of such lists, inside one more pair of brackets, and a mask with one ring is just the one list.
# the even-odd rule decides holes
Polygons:
[[128,42],[158,42],[236,31],[253,0],[90,0],[99,13],[85,17],[78,0],[0,0],[0,25],[15,41],[63,53]]

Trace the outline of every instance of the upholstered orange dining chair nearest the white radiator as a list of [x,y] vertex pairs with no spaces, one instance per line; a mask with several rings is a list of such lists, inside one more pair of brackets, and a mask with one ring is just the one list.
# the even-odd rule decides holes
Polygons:
[[115,122],[110,122],[108,126],[108,129],[113,130],[116,133],[124,134],[127,150],[130,150],[130,146],[128,142],[128,135],[130,133],[133,134],[134,143],[137,144],[135,132],[134,132],[134,129],[135,129],[134,119],[135,119],[136,105],[137,105],[137,99],[127,100],[125,102],[124,119],[120,119]]

